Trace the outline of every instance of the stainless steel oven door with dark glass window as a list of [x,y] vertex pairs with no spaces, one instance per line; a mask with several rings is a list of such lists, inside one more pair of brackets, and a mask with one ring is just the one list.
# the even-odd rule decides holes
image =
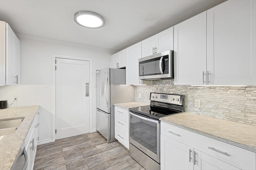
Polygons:
[[129,113],[129,142],[160,163],[160,121]]

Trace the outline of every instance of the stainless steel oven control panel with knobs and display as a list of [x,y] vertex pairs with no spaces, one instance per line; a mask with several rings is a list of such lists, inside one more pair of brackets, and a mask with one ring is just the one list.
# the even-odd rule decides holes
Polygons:
[[155,102],[182,105],[182,98],[179,94],[150,93],[150,100]]

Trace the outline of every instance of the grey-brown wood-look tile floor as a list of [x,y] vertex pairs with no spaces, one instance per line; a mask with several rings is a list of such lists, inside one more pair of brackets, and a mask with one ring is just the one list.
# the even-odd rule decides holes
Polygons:
[[145,170],[118,141],[87,133],[38,145],[34,170]]

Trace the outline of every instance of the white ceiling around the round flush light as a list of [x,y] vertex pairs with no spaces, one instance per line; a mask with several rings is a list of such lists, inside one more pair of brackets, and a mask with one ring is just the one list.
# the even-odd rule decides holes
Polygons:
[[[0,20],[18,35],[120,51],[225,0],[0,0]],[[99,29],[74,22],[80,10],[105,18]]]

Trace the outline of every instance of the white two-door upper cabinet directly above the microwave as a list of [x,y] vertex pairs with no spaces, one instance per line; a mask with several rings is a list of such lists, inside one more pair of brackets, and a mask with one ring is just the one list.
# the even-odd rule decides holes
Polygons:
[[142,41],[142,57],[173,50],[173,27]]

